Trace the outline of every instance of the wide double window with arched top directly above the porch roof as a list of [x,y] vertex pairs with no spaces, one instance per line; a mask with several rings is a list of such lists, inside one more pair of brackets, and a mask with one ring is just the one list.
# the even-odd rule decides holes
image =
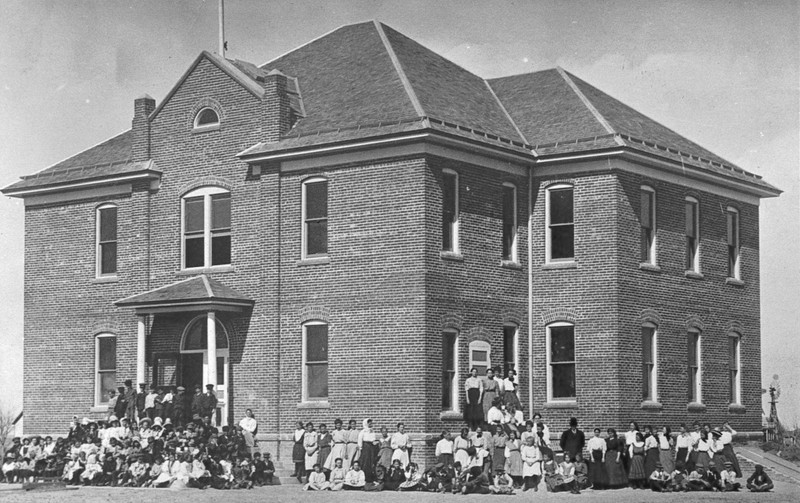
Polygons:
[[183,197],[183,267],[231,263],[231,193],[203,187]]

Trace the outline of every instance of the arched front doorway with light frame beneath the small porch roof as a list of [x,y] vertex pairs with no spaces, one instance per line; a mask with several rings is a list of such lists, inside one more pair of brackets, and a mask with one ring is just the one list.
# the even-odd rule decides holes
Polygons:
[[[208,379],[208,316],[201,315],[194,318],[186,325],[181,337],[181,385],[187,393],[194,394],[195,386],[200,385],[205,391],[204,383]],[[228,332],[225,326],[216,320],[217,334],[217,385],[214,391],[217,394],[217,411],[214,423],[218,426],[228,424]]]

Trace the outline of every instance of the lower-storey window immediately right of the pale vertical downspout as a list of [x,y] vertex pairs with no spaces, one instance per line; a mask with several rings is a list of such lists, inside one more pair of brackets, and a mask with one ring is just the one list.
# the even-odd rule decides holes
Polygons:
[[548,400],[575,400],[575,327],[554,323],[547,327]]

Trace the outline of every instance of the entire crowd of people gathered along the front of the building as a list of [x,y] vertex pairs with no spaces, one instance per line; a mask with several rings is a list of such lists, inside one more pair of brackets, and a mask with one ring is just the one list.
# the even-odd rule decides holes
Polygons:
[[[571,418],[558,442],[541,414],[525,420],[513,371],[506,379],[477,371],[465,383],[467,408],[458,435],[443,431],[436,464],[420,470],[404,423],[374,428],[341,419],[328,429],[297,422],[293,476],[305,490],[431,491],[512,494],[515,490],[580,493],[623,487],[673,491],[738,491],[742,472],[728,423],[695,422],[673,435],[669,426],[640,428],[631,422],[618,435],[595,428],[586,435]],[[501,384],[502,383],[502,384]],[[73,419],[65,438],[15,438],[2,465],[6,482],[61,478],[67,484],[133,487],[252,488],[272,484],[275,467],[256,442],[258,422],[248,409],[232,427],[217,428],[213,386],[187,397],[185,389],[154,386],[131,392],[131,382],[109,405],[104,421]],[[143,399],[140,400],[140,397]],[[490,402],[486,404],[486,400]],[[488,405],[488,406],[487,406]],[[119,414],[119,415],[118,415]],[[559,462],[558,459],[561,459]],[[763,467],[746,481],[751,491],[773,483]]]

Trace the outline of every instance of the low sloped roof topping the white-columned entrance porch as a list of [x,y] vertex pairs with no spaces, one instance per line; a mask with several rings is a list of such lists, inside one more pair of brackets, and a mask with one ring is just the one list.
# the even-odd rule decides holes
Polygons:
[[114,302],[118,307],[158,307],[219,302],[253,305],[253,299],[205,274],[184,279]]

